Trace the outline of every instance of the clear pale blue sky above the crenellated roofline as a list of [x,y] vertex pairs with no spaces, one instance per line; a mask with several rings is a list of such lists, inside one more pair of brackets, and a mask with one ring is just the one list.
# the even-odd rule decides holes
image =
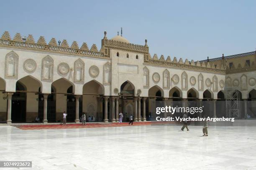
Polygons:
[[37,41],[76,40],[101,46],[123,27],[134,44],[148,40],[151,56],[205,60],[256,48],[255,0],[3,0],[0,33],[32,34]]

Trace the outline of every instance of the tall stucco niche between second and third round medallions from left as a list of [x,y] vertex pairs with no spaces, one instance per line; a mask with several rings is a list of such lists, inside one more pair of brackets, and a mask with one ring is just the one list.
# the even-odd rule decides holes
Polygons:
[[80,58],[74,62],[74,83],[84,83],[84,62]]

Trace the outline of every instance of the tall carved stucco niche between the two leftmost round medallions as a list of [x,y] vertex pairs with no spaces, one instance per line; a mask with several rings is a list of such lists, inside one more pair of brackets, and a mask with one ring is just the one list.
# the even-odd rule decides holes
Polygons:
[[41,80],[45,82],[52,82],[53,71],[54,71],[54,60],[49,55],[47,55],[42,60]]

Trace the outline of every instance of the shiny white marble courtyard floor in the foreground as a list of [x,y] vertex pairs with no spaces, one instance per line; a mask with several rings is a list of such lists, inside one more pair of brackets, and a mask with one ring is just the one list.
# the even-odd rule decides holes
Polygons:
[[200,126],[180,128],[1,125],[0,161],[32,161],[32,168],[20,169],[33,170],[256,170],[256,126],[212,126],[208,137]]

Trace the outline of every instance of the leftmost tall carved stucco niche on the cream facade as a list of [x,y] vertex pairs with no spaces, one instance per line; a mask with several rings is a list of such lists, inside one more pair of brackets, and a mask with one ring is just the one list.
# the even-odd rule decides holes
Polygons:
[[5,78],[18,79],[19,56],[11,51],[5,56]]

